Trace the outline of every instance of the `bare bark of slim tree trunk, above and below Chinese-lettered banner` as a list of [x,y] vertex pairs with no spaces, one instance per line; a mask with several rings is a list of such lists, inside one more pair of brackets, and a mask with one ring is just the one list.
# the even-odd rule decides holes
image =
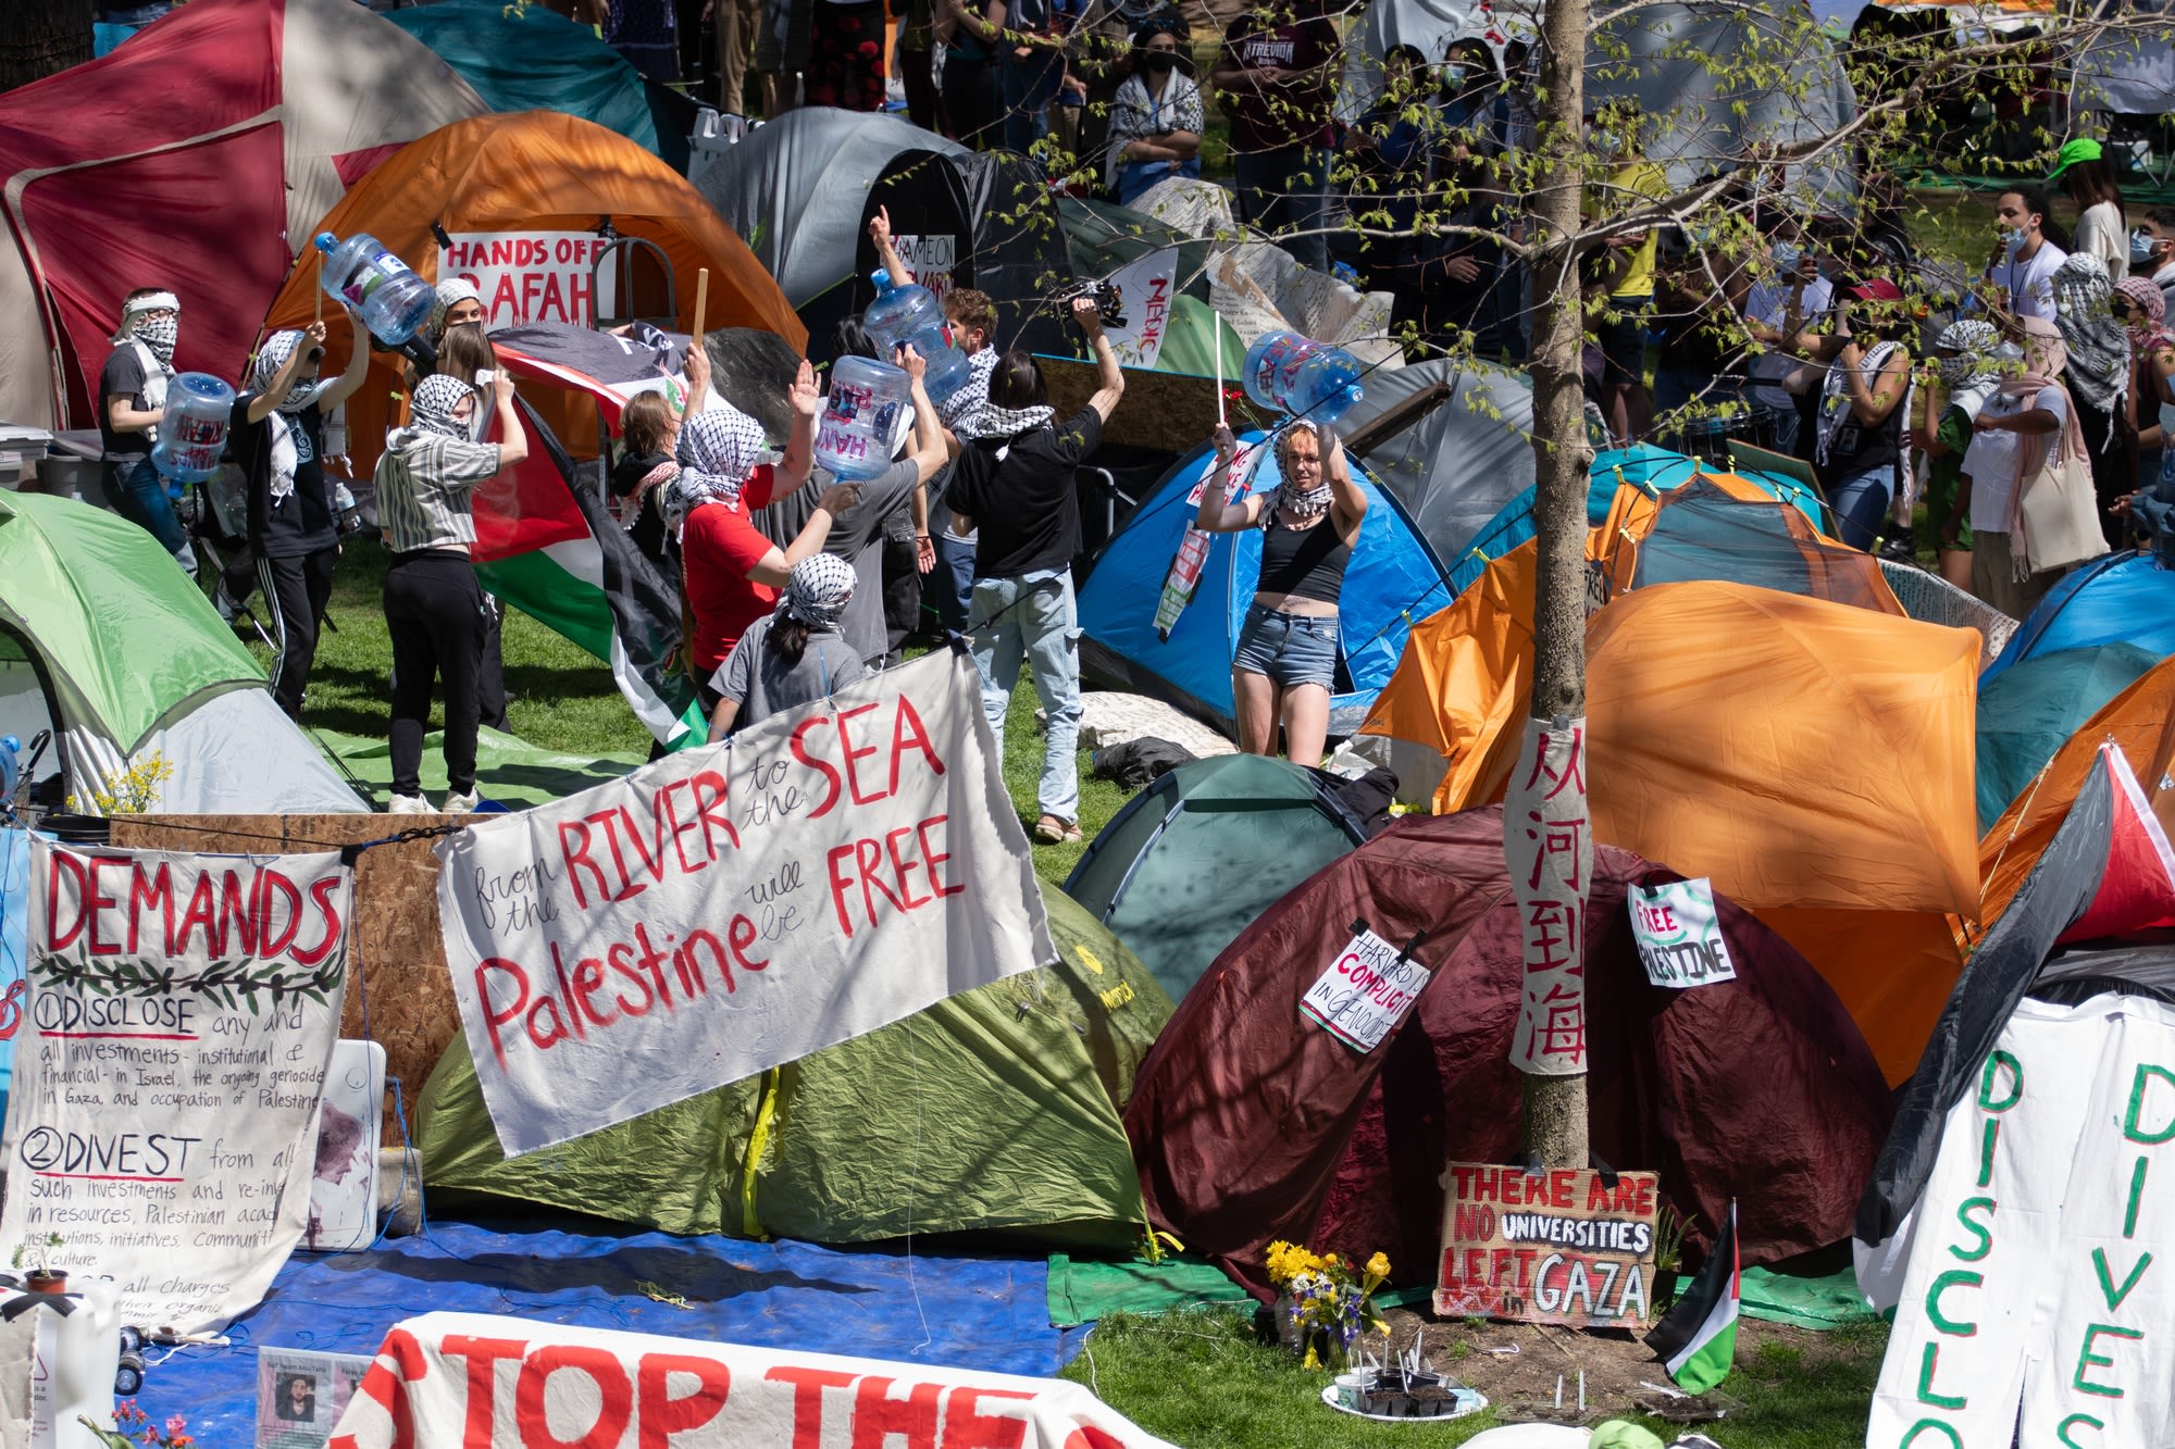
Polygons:
[[[1549,0],[1542,20],[1540,176],[1533,257],[1540,309],[1533,344],[1533,703],[1538,720],[1586,714],[1586,389],[1579,231],[1586,152],[1588,0]],[[1583,936],[1583,931],[1581,931]],[[1581,942],[1583,944],[1583,942]],[[1525,1151],[1544,1166],[1583,1168],[1586,1075],[1525,1077]]]

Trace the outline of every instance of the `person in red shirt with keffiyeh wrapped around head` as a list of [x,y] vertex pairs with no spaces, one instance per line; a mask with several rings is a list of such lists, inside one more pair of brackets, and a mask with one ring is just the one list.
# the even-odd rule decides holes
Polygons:
[[846,511],[859,487],[826,487],[807,524],[785,548],[763,537],[748,509],[770,505],[809,481],[816,466],[816,416],[822,394],[803,361],[792,387],[794,431],[785,457],[757,463],[763,429],[735,407],[689,413],[681,424],[681,472],[666,494],[666,520],[679,531],[681,579],[687,600],[687,655],[703,694],[703,711],[718,707],[709,677],[718,672],[748,624],[766,618],[794,564],[822,550],[831,520]]

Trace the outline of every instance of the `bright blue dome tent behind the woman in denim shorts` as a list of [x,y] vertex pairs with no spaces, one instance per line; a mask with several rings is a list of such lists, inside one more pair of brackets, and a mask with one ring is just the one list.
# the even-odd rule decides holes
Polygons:
[[[1266,433],[1246,433],[1240,444],[1257,446]],[[1277,487],[1272,448],[1257,455],[1253,492]],[[1179,616],[1170,640],[1155,637],[1155,605],[1164,577],[1179,553],[1179,540],[1194,522],[1194,485],[1207,476],[1216,455],[1194,450],[1140,505],[1118,537],[1105,544],[1079,596],[1085,661],[1105,683],[1161,696],[1181,709],[1209,716],[1231,729],[1231,651],[1262,577],[1262,531],[1216,533],[1201,566],[1194,600]],[[1338,598],[1338,631],[1351,685],[1329,701],[1329,733],[1353,733],[1390,683],[1405,635],[1451,600],[1442,564],[1414,529],[1405,509],[1364,466],[1353,476],[1368,498],[1366,522],[1344,590]]]

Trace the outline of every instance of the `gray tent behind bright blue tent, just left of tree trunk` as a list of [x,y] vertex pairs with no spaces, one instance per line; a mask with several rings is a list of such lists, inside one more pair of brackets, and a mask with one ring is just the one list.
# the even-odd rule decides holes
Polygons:
[[[1520,372],[1431,359],[1377,368],[1366,398],[1338,422],[1364,437],[1379,418],[1420,416],[1366,444],[1366,466],[1396,494],[1444,566],[1472,544],[1505,503],[1533,487],[1533,385]],[[1427,400],[1440,403],[1427,407]]]

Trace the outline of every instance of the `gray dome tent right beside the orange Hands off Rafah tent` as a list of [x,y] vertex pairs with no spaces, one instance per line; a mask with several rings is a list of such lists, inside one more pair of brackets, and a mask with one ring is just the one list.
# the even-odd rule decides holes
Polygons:
[[696,189],[779,278],[785,300],[805,307],[855,274],[861,205],[903,150],[968,154],[896,115],[803,107],[750,131]]

